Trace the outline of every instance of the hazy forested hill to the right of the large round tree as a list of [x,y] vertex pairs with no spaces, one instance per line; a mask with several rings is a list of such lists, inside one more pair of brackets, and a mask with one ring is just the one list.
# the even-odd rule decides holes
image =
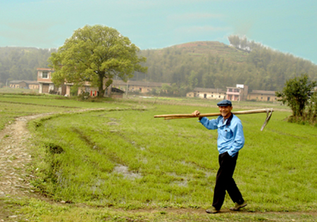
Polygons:
[[228,46],[217,41],[196,41],[162,48],[143,50],[149,67],[147,75],[134,79],[172,83],[184,95],[194,87],[225,89],[246,84],[249,90],[276,91],[285,80],[309,74],[317,80],[317,65],[294,55],[249,42],[232,42]]

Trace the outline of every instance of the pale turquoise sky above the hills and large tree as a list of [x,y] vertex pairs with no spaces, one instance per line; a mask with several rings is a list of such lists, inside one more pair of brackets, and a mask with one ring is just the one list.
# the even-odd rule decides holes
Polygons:
[[317,65],[316,0],[0,0],[0,47],[58,48],[85,25],[140,49],[238,34]]

